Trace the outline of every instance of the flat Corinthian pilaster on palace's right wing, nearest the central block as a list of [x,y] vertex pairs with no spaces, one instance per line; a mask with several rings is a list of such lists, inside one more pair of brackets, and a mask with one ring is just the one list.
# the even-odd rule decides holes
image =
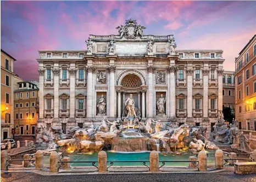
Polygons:
[[187,118],[192,118],[193,69],[187,69]]

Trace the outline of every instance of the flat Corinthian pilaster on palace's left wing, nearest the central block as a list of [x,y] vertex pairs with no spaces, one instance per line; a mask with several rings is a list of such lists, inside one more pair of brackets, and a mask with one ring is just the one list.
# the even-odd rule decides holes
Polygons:
[[75,75],[76,69],[70,68],[69,69],[70,75],[70,104],[69,104],[69,114],[70,118],[75,118]]

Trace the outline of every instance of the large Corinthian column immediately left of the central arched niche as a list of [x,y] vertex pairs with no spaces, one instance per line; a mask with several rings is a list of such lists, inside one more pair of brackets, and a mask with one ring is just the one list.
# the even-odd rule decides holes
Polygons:
[[109,66],[109,117],[115,117],[115,66]]

